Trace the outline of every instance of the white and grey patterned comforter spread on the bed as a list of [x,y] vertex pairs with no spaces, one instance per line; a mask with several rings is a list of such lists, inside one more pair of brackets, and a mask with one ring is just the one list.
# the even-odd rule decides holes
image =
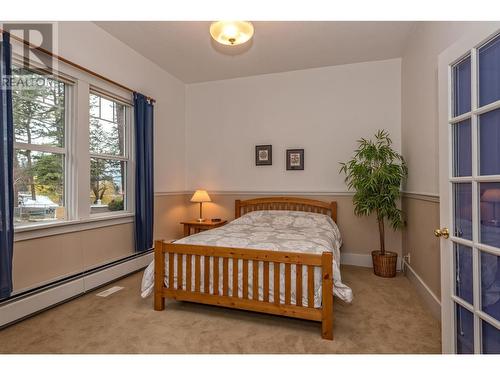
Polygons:
[[[300,211],[254,211],[243,215],[229,224],[212,229],[209,231],[201,232],[192,236],[185,237],[176,241],[179,244],[191,245],[208,245],[208,246],[225,246],[225,247],[239,247],[247,249],[265,249],[265,250],[283,250],[291,252],[313,253],[321,254],[324,251],[331,251],[333,253],[333,276],[334,276],[334,294],[346,302],[352,301],[351,289],[342,283],[340,275],[340,246],[342,239],[335,222],[328,216],[310,212]],[[184,257],[184,263],[186,262]],[[194,262],[194,257],[192,257]],[[213,258],[210,258],[212,265]],[[243,278],[243,267],[238,265],[239,271],[239,290],[238,295],[243,295],[241,286]],[[248,263],[248,285],[249,285],[249,298],[252,296],[252,262]],[[203,267],[203,257],[201,258],[201,270]],[[165,269],[168,272],[168,257],[165,259]],[[194,264],[192,264],[194,269]],[[219,259],[219,269],[222,270],[222,259]],[[263,264],[259,262],[259,300],[263,300]],[[177,266],[174,265],[174,270]],[[184,288],[185,285],[185,264],[183,265],[184,275]],[[229,295],[233,295],[231,290],[232,286],[232,262],[229,262]],[[273,281],[274,281],[274,267],[273,263],[269,265],[269,299],[274,301],[273,295]],[[284,284],[285,274],[284,265],[280,269],[280,300],[284,303]],[[302,267],[302,290],[303,297],[302,303],[307,306],[307,267]],[[292,291],[291,303],[295,304],[295,266],[292,265]],[[219,272],[219,290],[222,290],[222,272]],[[194,275],[192,275],[194,278]],[[203,286],[203,277],[201,279],[201,288]],[[177,284],[177,275],[174,274],[174,283]],[[210,284],[212,279],[210,278]],[[168,286],[168,275],[165,277],[165,285]],[[194,281],[191,283],[194,288]],[[314,306],[321,306],[321,270],[315,267],[314,271]],[[142,279],[142,297],[147,297],[151,294],[154,288],[154,262],[146,268]],[[209,286],[210,291],[213,290],[213,285]],[[203,289],[202,289],[203,290]]]

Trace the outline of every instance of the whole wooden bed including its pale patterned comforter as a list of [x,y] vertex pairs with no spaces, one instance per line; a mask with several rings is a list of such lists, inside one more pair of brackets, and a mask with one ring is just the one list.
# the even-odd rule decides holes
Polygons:
[[174,243],[156,241],[142,296],[154,292],[155,310],[173,298],[319,321],[322,337],[333,339],[333,294],[352,299],[340,278],[336,202],[237,200],[235,218]]

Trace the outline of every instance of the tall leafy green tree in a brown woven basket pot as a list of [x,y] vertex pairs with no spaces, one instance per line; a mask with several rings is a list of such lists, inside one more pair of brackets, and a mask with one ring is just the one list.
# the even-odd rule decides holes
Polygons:
[[392,149],[386,130],[379,130],[374,140],[360,139],[354,157],[340,163],[349,189],[355,190],[354,213],[375,213],[378,221],[380,249],[372,251],[373,271],[382,277],[396,276],[398,254],[385,250],[384,220],[394,229],[404,225],[403,213],[397,207],[401,183],[408,175],[403,157]]

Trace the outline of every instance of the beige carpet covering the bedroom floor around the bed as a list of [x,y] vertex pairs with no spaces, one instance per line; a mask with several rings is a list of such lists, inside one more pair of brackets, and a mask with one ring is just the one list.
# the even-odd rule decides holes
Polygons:
[[151,297],[140,298],[136,273],[107,298],[96,291],[1,330],[0,352],[440,352],[440,325],[403,275],[382,279],[352,266],[342,275],[354,302],[335,300],[334,341],[321,339],[319,323],[291,318],[171,300],[156,312]]

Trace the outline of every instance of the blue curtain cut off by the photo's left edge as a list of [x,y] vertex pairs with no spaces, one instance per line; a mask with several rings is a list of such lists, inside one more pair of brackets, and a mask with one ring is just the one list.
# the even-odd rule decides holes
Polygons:
[[0,44],[0,299],[12,292],[12,250],[14,245],[14,124],[12,120],[12,75],[10,35]]

